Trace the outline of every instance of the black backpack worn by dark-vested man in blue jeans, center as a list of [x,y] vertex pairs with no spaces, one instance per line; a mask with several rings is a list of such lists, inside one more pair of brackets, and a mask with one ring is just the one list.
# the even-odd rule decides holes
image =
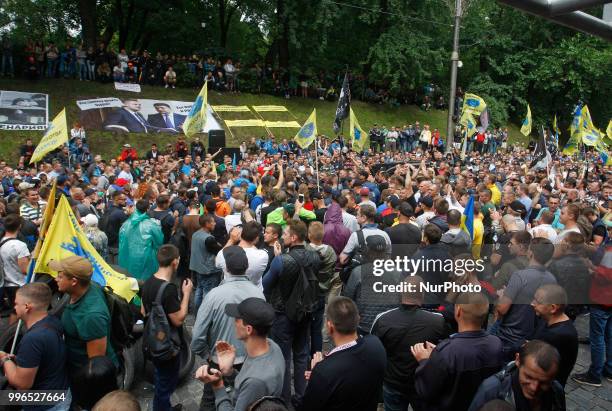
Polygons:
[[294,260],[300,272],[285,304],[285,311],[291,321],[299,323],[316,309],[319,299],[319,280],[312,267],[300,264],[300,259],[291,255],[291,252],[286,255]]

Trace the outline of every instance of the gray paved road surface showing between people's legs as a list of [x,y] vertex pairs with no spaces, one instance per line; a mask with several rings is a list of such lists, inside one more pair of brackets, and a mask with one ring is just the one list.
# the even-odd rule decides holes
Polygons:
[[[193,317],[187,319],[187,324],[189,327],[193,325]],[[576,321],[576,328],[581,336],[588,335],[588,326],[588,316],[580,317]],[[586,371],[590,362],[589,346],[581,344],[574,372]],[[202,361],[196,359],[196,366],[201,364]],[[612,383],[608,381],[604,380],[601,387],[595,388],[576,384],[570,378],[565,391],[568,411],[612,411]],[[150,383],[139,381],[132,392],[138,397],[143,411],[152,410],[153,386]],[[182,403],[186,411],[198,411],[201,396],[202,384],[193,378],[187,378],[172,396],[172,403]]]

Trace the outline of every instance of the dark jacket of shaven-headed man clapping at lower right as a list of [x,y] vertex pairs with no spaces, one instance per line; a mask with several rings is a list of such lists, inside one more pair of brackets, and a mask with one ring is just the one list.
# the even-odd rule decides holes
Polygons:
[[483,330],[453,334],[419,363],[416,391],[428,411],[467,410],[480,384],[502,365],[498,337]]

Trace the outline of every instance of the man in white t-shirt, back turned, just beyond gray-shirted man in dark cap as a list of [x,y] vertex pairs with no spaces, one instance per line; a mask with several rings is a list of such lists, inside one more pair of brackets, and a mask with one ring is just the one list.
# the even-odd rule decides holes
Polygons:
[[[242,233],[240,234],[240,243],[238,245],[244,249],[247,259],[249,260],[249,267],[246,270],[246,276],[251,280],[253,284],[259,287],[263,291],[263,285],[261,283],[261,277],[263,276],[266,267],[268,266],[268,253],[255,246],[259,242],[259,234],[261,233],[261,225],[257,221],[249,221],[242,226]],[[228,241],[228,244],[230,241]],[[227,247],[227,245],[226,245]],[[217,268],[223,270],[224,278],[229,278],[231,274],[227,270],[225,264],[225,256],[223,253],[217,254],[215,259],[215,265]]]

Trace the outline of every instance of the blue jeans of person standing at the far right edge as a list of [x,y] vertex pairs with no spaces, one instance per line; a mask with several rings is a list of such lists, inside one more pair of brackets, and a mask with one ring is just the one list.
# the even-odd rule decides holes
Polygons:
[[612,375],[612,311],[591,306],[589,339],[591,340],[591,366],[589,374],[601,379],[603,372]]

